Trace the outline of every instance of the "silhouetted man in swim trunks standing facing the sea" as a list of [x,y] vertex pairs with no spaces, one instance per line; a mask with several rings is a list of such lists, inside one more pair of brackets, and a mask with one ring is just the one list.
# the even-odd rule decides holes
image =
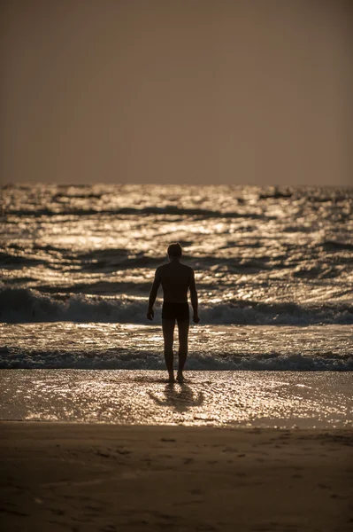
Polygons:
[[171,244],[168,247],[169,263],[159,266],[156,270],[155,280],[150,291],[149,309],[147,318],[154,317],[153,305],[156,301],[160,284],[163,287],[162,328],[165,339],[165,365],[169,374],[169,382],[175,382],[173,372],[173,340],[175,320],[179,332],[179,367],[177,381],[183,382],[183,369],[188,356],[188,289],[190,289],[191,304],[194,310],[193,320],[198,324],[198,300],[195,286],[194,270],[180,262],[180,244]]

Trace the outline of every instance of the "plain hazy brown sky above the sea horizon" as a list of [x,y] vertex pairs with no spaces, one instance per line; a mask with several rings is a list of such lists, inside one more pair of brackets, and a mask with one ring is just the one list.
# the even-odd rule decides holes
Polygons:
[[2,183],[353,185],[352,7],[1,0]]

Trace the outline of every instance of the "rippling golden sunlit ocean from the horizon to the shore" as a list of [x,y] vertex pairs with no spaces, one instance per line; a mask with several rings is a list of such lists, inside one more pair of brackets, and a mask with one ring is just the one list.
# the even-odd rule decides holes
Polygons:
[[[303,386],[317,391],[328,381],[316,387],[312,379],[335,372],[337,393],[343,387],[349,396],[351,373],[338,372],[353,370],[353,189],[8,185],[1,221],[0,368],[9,396],[29,369],[50,370],[51,382],[67,370],[93,371],[99,381],[96,371],[105,370],[119,382],[145,372],[162,383],[161,292],[153,323],[146,310],[173,241],[196,272],[201,322],[190,326],[186,370],[194,370],[187,375],[197,393],[210,372],[223,382],[218,389],[226,375],[234,386],[241,374],[249,383],[272,372],[273,388],[288,372],[293,388],[303,372],[316,372]],[[48,389],[42,373],[31,375],[33,393],[35,382]],[[75,387],[84,387],[88,373],[75,375]],[[162,393],[156,382],[152,394]],[[0,417],[17,419],[6,404]],[[349,408],[336,418],[347,420]]]

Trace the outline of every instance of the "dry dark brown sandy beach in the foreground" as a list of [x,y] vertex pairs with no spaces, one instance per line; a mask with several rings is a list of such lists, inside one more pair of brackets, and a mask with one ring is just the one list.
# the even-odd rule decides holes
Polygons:
[[1,422],[4,530],[353,523],[351,430]]

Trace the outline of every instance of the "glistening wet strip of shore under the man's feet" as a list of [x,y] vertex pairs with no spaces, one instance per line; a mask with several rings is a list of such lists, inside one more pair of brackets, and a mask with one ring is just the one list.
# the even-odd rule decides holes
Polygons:
[[0,419],[187,426],[352,426],[350,372],[0,372]]

